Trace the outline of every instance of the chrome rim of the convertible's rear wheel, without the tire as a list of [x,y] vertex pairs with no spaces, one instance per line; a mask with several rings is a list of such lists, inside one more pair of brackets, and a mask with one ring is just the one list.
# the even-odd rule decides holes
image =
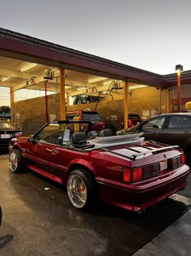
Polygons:
[[87,202],[87,186],[79,174],[71,173],[67,182],[70,202],[76,208],[83,208]]

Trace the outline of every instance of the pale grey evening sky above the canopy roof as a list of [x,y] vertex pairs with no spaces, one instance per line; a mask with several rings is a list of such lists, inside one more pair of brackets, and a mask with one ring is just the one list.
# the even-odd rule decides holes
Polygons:
[[190,0],[0,0],[0,27],[169,74],[191,70],[190,10]]

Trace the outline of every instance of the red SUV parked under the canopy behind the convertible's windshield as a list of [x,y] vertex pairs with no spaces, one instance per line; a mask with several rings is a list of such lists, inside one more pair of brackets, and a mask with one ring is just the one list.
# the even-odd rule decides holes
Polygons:
[[90,109],[83,111],[67,111],[66,119],[91,121],[91,132],[99,132],[104,129],[104,120],[98,111],[91,111]]

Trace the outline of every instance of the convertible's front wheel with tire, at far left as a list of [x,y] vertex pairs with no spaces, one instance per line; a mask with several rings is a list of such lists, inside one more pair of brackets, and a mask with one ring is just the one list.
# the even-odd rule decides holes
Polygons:
[[12,172],[17,173],[23,171],[24,161],[20,150],[16,149],[11,152],[9,163]]

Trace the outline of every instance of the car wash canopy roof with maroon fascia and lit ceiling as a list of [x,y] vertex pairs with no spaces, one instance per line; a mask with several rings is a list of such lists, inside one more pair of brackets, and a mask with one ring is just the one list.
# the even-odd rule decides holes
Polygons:
[[[32,63],[36,66],[22,72],[23,67]],[[49,68],[53,73],[51,80],[45,79],[45,70]],[[129,82],[129,89],[142,85],[161,89],[176,85],[176,73],[162,76],[146,72],[0,28],[0,86],[13,91],[45,90],[47,81],[48,91],[59,92],[60,68],[65,69],[66,93],[69,96],[103,96],[111,89],[121,89],[125,80]],[[184,83],[191,83],[191,71],[182,73]]]

